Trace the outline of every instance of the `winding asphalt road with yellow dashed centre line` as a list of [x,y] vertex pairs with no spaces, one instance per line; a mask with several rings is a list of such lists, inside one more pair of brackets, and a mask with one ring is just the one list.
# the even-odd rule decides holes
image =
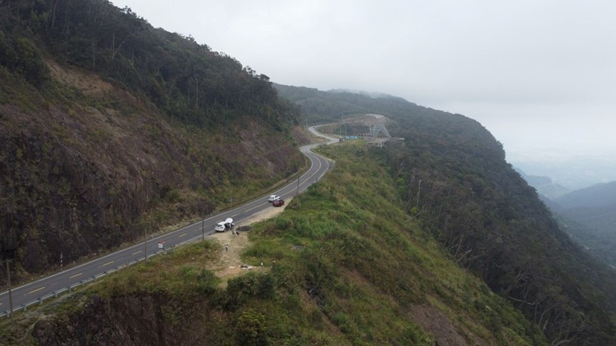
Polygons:
[[[337,138],[322,135],[314,129],[314,126],[309,128],[309,130],[315,135],[328,139],[329,142],[327,144],[337,143],[339,141]],[[323,177],[327,169],[329,169],[329,161],[325,157],[312,152],[312,149],[318,145],[321,144],[304,145],[299,148],[299,150],[306,155],[308,160],[310,160],[310,168],[298,179],[281,189],[271,191],[270,194],[277,194],[281,196],[282,199],[288,199],[295,196],[295,194],[305,191],[308,186],[314,184]],[[164,242],[165,249],[169,249],[170,247],[182,245],[191,240],[203,238],[205,235],[214,233],[214,225],[226,218],[233,218],[236,226],[241,225],[243,221],[246,221],[246,219],[250,218],[255,213],[259,213],[266,208],[273,208],[271,203],[267,201],[270,194],[261,196],[242,206],[224,211],[170,233],[148,238],[147,242],[141,242],[131,247],[126,247],[84,264],[79,264],[76,267],[71,267],[61,272],[50,274],[48,277],[18,286],[11,290],[13,311],[22,310],[26,306],[32,305],[32,303],[43,301],[43,299],[49,298],[50,296],[55,296],[59,291],[66,291],[69,287],[77,286],[90,279],[96,279],[103,274],[117,270],[119,267],[139,262],[145,258],[146,252],[148,257],[156,255],[158,251],[158,242]],[[9,291],[2,292],[0,294],[0,316],[8,316],[10,305]]]

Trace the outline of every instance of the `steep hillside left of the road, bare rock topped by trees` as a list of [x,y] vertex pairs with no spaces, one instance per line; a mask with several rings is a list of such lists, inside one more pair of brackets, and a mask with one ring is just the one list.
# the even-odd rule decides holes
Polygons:
[[109,1],[1,1],[0,79],[0,257],[16,259],[14,281],[305,164],[297,111],[266,76]]

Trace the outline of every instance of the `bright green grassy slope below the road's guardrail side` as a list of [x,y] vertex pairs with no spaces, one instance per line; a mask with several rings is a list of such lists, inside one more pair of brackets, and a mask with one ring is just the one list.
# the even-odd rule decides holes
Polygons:
[[[250,233],[253,246],[245,261],[275,263],[270,274],[250,273],[219,289],[205,268],[220,249],[190,245],[104,281],[92,289],[94,298],[82,298],[89,307],[41,320],[34,334],[41,341],[74,340],[75,330],[89,330],[94,321],[108,328],[89,335],[96,342],[131,337],[222,345],[546,343],[409,219],[392,179],[368,147],[323,151],[336,160],[335,169]],[[148,309],[156,311],[158,322],[143,320]],[[133,310],[142,311],[141,319],[131,318]],[[165,330],[157,340],[146,340],[139,330],[152,323]]]

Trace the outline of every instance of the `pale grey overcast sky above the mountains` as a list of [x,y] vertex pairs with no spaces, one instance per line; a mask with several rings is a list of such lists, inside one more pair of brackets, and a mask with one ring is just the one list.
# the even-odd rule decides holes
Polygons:
[[462,113],[507,160],[616,160],[616,1],[112,0],[272,82]]

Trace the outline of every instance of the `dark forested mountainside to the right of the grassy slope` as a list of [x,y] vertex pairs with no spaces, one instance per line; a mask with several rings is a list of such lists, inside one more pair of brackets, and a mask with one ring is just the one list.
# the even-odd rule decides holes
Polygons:
[[[537,192],[505,162],[502,145],[476,121],[405,103],[358,94],[279,88],[315,117],[341,119],[353,112],[390,118],[392,136],[405,145],[381,150],[407,211],[463,267],[485,279],[546,337],[571,345],[616,342],[614,272],[591,259],[561,231]],[[290,90],[290,91],[289,91]],[[302,92],[305,93],[302,98]],[[364,130],[364,132],[367,132]]]

